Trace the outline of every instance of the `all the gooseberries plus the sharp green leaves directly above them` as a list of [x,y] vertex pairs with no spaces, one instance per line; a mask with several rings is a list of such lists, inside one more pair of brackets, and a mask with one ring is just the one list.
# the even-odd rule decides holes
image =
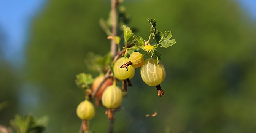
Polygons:
[[[140,36],[133,36],[130,28],[124,26],[124,38],[126,38],[126,43],[125,48],[121,53],[125,56],[120,57],[120,54],[116,55],[116,58],[114,58],[112,63],[113,65],[109,68],[109,72],[106,73],[106,75],[110,73],[108,78],[106,78],[106,75],[102,74],[94,79],[91,89],[87,89],[89,91],[86,95],[89,95],[89,98],[87,96],[86,100],[82,101],[77,107],[76,113],[80,119],[86,122],[86,120],[90,120],[95,116],[95,108],[90,101],[92,93],[95,93],[96,106],[99,106],[100,103],[102,103],[102,105],[108,109],[106,112],[108,114],[108,119],[113,119],[113,111],[119,108],[122,103],[122,91],[127,92],[127,85],[132,86],[130,79],[134,77],[135,68],[140,67],[140,76],[145,84],[148,86],[156,86],[159,97],[162,97],[165,94],[161,89],[160,84],[166,77],[166,71],[164,65],[159,60],[159,58],[161,59],[161,54],[158,53],[158,55],[156,55],[155,52],[158,52],[156,51],[158,46],[164,48],[172,46],[175,43],[175,40],[171,40],[171,32],[156,32],[156,23],[154,20],[149,20],[149,23],[151,25],[149,40],[151,36],[153,36],[157,44],[150,45],[149,40],[145,41]],[[126,34],[130,32],[130,36],[126,35],[125,32]],[[130,43],[127,43],[127,40],[130,40],[128,41]],[[131,40],[134,40],[134,43],[131,43]],[[127,51],[130,50],[130,47],[133,48],[131,48],[132,53],[128,58]],[[146,51],[146,54],[135,52],[134,50],[138,48]],[[148,55],[150,52],[151,57],[144,60],[145,55]],[[117,81],[122,81],[122,89],[116,86]]]

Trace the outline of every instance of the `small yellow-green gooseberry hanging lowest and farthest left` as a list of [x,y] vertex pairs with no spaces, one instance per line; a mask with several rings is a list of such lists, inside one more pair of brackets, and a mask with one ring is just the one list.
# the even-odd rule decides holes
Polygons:
[[94,105],[88,101],[84,100],[76,108],[76,115],[81,120],[90,120],[95,116],[95,108]]

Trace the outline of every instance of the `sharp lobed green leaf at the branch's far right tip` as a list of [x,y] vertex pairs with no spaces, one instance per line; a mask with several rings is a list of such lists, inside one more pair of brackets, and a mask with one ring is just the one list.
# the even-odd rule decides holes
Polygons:
[[160,47],[170,47],[175,44],[175,39],[172,38],[172,33],[170,31],[165,31],[164,34],[162,32],[158,32],[155,36],[156,42],[159,44]]

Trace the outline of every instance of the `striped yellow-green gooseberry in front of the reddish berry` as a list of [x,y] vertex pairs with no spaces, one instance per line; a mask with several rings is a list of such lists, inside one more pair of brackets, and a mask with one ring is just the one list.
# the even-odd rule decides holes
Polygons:
[[[120,69],[120,68],[119,68]],[[115,84],[108,86],[102,94],[102,104],[108,109],[115,109],[122,103],[122,91]]]

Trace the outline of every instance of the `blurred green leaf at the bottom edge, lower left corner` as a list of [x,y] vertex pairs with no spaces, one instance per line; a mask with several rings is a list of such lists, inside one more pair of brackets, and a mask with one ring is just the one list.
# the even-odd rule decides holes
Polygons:
[[35,120],[33,116],[28,115],[24,118],[16,115],[13,120],[10,120],[10,125],[17,133],[43,133],[47,118],[44,117],[44,122]]

